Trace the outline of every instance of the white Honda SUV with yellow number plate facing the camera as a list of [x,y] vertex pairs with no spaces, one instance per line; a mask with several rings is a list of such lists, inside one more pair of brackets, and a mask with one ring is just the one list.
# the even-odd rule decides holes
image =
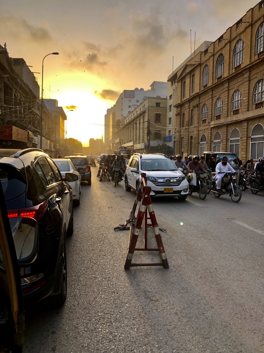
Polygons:
[[151,187],[150,195],[177,196],[185,200],[189,184],[184,174],[163,154],[135,153],[129,160],[125,171],[125,189],[138,190],[141,173],[146,173],[147,185]]

